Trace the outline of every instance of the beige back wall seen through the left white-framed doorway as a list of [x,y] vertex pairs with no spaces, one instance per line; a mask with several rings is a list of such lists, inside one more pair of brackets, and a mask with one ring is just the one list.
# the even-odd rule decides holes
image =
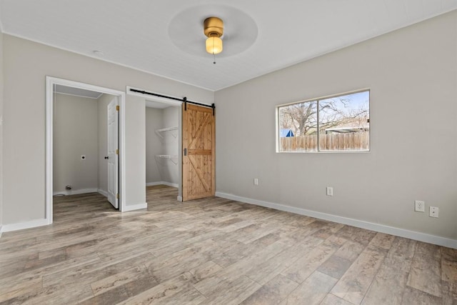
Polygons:
[[96,99],[54,94],[54,193],[98,189],[97,111]]

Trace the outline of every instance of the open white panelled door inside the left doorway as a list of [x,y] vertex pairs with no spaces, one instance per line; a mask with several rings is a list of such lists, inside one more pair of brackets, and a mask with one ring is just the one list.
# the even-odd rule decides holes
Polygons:
[[119,209],[119,104],[108,104],[108,201]]

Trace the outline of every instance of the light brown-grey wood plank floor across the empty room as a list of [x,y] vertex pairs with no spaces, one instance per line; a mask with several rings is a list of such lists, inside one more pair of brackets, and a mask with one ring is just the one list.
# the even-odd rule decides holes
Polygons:
[[457,250],[220,198],[56,197],[4,233],[0,304],[457,304]]

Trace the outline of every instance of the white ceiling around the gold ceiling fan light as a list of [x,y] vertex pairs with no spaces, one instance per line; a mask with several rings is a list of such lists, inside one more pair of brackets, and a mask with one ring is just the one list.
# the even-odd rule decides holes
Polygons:
[[[453,9],[457,0],[0,0],[0,21],[6,34],[216,91]],[[216,64],[204,48],[211,15],[225,25]]]

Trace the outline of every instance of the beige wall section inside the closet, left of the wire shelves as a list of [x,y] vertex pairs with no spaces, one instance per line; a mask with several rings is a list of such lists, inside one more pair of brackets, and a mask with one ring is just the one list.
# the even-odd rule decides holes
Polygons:
[[162,109],[146,107],[146,183],[162,181],[155,156],[164,153],[155,131],[164,128],[163,117]]

